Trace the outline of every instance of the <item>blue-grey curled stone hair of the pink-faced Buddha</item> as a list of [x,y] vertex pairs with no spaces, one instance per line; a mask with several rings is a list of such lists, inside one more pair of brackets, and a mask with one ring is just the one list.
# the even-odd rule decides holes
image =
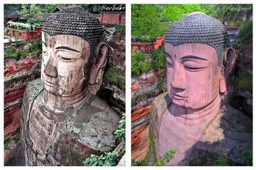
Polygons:
[[216,49],[217,64],[222,64],[222,53],[226,48],[227,33],[221,22],[207,14],[190,14],[170,24],[165,43],[173,46],[189,43],[204,43]]

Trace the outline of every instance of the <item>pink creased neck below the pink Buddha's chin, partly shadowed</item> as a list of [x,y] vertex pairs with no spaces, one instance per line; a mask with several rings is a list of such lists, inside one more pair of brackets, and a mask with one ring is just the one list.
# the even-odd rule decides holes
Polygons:
[[[171,104],[169,107],[170,113],[178,117],[180,121],[188,125],[199,125],[204,122],[207,117],[213,117],[217,114],[220,107],[220,96],[217,95],[215,100],[205,106],[204,108],[192,109],[192,108],[184,108],[182,106],[178,106],[176,104]],[[202,121],[203,120],[203,121]]]

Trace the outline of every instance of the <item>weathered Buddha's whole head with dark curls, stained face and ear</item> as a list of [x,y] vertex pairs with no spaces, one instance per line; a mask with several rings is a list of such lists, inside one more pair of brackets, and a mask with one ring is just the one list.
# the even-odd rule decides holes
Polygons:
[[58,7],[43,16],[41,79],[55,98],[76,100],[102,83],[107,45],[95,16],[80,7]]

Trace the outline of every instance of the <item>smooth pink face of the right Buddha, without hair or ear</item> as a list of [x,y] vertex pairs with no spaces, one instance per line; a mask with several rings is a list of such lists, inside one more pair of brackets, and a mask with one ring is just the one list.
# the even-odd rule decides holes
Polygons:
[[168,95],[174,104],[197,109],[213,102],[219,94],[221,74],[213,47],[165,43],[165,55]]

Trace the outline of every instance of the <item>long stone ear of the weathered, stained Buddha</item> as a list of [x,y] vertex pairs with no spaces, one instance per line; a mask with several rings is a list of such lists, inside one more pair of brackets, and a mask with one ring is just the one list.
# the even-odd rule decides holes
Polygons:
[[89,91],[93,95],[96,95],[102,85],[103,74],[107,63],[107,52],[107,45],[103,42],[99,43],[95,49],[89,80]]

